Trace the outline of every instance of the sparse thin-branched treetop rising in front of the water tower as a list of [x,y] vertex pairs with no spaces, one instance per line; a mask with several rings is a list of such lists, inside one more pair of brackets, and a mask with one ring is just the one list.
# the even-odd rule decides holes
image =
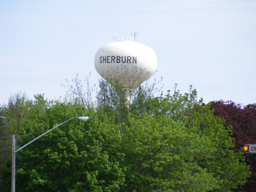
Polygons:
[[[127,66],[124,66],[126,68]],[[127,69],[127,68],[126,68]],[[140,75],[143,70],[133,68],[133,75],[125,70],[124,73],[119,74],[117,69],[114,69],[117,76],[121,75],[121,80],[117,80],[114,77],[109,76],[108,81],[104,79],[99,80],[97,90],[95,87],[90,86],[90,76],[85,78],[85,84],[82,84],[82,80],[77,77],[72,79],[72,84],[68,83],[65,86],[68,91],[67,95],[63,98],[65,103],[71,102],[73,106],[84,106],[87,109],[90,107],[97,111],[107,113],[108,117],[114,117],[115,124],[121,125],[127,124],[128,113],[143,114],[144,110],[147,110],[150,105],[150,100],[158,95],[162,89],[158,89],[157,85],[162,82],[160,80],[147,79],[142,85],[139,85],[142,81]],[[124,88],[123,83],[126,82],[129,87]],[[96,95],[96,101],[92,99],[93,95]]]

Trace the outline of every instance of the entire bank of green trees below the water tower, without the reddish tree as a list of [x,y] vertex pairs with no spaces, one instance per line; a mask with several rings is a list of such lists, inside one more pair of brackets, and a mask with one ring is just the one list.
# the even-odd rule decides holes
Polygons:
[[[72,117],[90,119],[68,121],[18,152],[16,191],[231,191],[247,181],[231,127],[197,101],[192,87],[154,97],[140,86],[127,101],[115,83],[100,82],[94,109],[79,98],[43,95],[22,104],[26,115],[17,113],[13,131],[18,147]],[[4,126],[13,129],[15,110],[2,111]],[[10,191],[10,173],[9,162],[0,190]]]

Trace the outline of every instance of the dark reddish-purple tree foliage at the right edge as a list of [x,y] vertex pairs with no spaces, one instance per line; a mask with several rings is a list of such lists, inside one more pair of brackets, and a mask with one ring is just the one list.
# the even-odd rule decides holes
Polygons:
[[[240,150],[244,144],[256,143],[256,104],[241,104],[228,101],[213,101],[214,115],[225,119],[225,127],[232,126],[234,150]],[[256,154],[244,154],[245,162],[250,166],[251,178],[245,185],[239,185],[236,191],[254,192],[256,189]]]

